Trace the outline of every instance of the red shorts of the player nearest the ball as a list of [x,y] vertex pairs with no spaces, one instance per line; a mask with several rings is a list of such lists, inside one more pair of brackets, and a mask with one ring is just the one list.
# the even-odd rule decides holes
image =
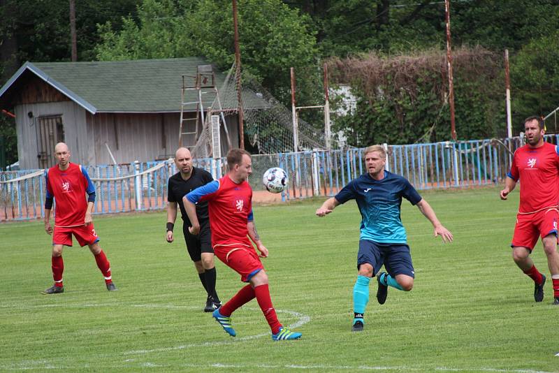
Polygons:
[[251,277],[264,269],[256,251],[252,247],[214,247],[215,256],[240,275],[243,282],[250,281]]

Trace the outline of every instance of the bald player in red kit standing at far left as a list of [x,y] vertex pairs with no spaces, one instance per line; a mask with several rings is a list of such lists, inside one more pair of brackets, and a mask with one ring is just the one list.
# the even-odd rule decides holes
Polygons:
[[[47,182],[45,231],[52,235],[52,278],[55,284],[43,291],[43,294],[64,293],[62,248],[72,246],[72,235],[78,240],[80,246],[89,245],[97,267],[105,277],[107,290],[117,290],[110,275],[110,263],[97,243],[99,237],[93,226],[94,184],[82,166],[70,162],[71,153],[64,142],[59,142],[55,146],[55,156],[58,164],[49,168],[45,174]],[[54,229],[50,226],[53,200],[56,200]]]

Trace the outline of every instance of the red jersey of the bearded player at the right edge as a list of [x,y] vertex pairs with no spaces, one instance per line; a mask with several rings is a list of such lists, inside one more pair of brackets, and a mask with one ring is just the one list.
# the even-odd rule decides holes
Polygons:
[[507,174],[521,181],[518,212],[530,213],[559,202],[559,149],[544,142],[541,147],[524,145],[516,149]]

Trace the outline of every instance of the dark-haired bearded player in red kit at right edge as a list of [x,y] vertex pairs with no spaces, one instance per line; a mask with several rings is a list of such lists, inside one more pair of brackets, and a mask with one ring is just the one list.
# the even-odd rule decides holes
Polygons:
[[512,237],[512,258],[518,268],[534,280],[534,299],[544,300],[546,277],[536,269],[530,254],[542,237],[553,282],[553,305],[559,305],[559,147],[544,142],[544,122],[538,117],[524,121],[527,145],[516,149],[511,170],[500,192],[502,200],[521,181],[520,205]]

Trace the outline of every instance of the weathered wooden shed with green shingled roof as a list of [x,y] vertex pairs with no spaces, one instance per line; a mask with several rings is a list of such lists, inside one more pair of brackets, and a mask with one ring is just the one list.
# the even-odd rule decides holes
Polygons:
[[[68,144],[72,160],[88,165],[154,161],[173,156],[180,138],[180,113],[198,115],[198,92],[185,92],[182,75],[196,75],[208,61],[198,57],[135,61],[26,62],[0,89],[0,110],[15,113],[20,168],[55,163],[54,145]],[[215,86],[224,82],[215,71]],[[205,92],[208,93],[208,92]],[[202,98],[205,108],[215,94]],[[226,119],[231,146],[238,146],[238,121]],[[182,132],[196,132],[196,121]],[[201,129],[201,126],[200,126]],[[199,132],[198,132],[199,134]],[[194,134],[183,135],[192,145]],[[222,154],[228,149],[222,142]]]

